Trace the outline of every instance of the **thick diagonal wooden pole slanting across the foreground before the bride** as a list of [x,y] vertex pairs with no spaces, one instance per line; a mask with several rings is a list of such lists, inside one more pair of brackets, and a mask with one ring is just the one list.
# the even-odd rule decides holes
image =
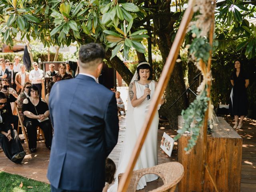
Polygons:
[[182,18],[182,21],[180,23],[180,27],[178,29],[178,32],[177,32],[174,42],[172,44],[169,55],[166,59],[166,63],[162,70],[162,74],[160,76],[158,86],[156,87],[156,91],[152,98],[152,102],[150,103],[148,116],[146,117],[144,125],[142,127],[142,130],[140,132],[140,135],[138,136],[134,151],[132,153],[132,156],[130,158],[128,166],[126,168],[126,172],[122,176],[120,184],[118,185],[118,192],[126,192],[126,190],[128,188],[128,185],[130,183],[130,179],[132,176],[132,170],[137,162],[138,156],[140,154],[140,150],[141,150],[142,145],[146,139],[148,130],[149,130],[152,120],[154,118],[154,114],[156,113],[158,103],[160,102],[162,94],[164,93],[164,89],[165,89],[165,87],[170,79],[170,76],[172,74],[172,71],[174,69],[174,65],[175,65],[176,59],[178,57],[180,46],[182,45],[182,42],[186,35],[186,30],[187,30],[188,24],[193,15],[193,5],[194,5],[194,0],[190,0],[188,3],[188,8],[186,9],[186,11],[184,13],[184,17]]

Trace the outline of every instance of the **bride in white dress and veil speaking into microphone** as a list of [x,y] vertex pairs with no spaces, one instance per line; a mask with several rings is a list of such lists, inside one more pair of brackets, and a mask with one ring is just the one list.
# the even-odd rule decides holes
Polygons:
[[[124,173],[134,150],[136,140],[140,134],[144,120],[148,113],[150,98],[153,97],[157,82],[151,80],[152,72],[148,62],[140,62],[129,86],[129,99],[126,114],[126,133],[124,145],[116,171],[115,183],[110,186],[108,192],[117,192],[118,174]],[[163,103],[161,100],[160,104]],[[146,140],[140,151],[140,156],[136,162],[134,170],[152,167],[158,164],[157,160],[157,132],[158,132],[158,111],[148,131]],[[156,180],[158,176],[147,174],[143,176],[137,186],[137,190],[143,189],[146,182]]]

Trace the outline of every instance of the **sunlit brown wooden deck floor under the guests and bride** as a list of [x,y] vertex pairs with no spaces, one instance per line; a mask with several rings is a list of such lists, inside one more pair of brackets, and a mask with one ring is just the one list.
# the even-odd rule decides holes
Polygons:
[[[226,117],[228,123],[233,126],[232,119]],[[114,160],[118,166],[118,159],[120,156],[122,143],[125,134],[125,118],[120,117],[120,132],[118,138],[118,144],[110,154],[110,158]],[[163,132],[167,132],[169,135],[174,136],[175,131],[168,129],[158,130],[158,149],[160,149],[160,140]],[[256,120],[246,119],[243,129],[238,130],[238,134],[243,138],[242,148],[242,175],[241,175],[241,192],[255,192],[256,191]],[[13,174],[19,174],[24,177],[32,178],[42,182],[48,183],[46,178],[47,167],[49,163],[50,151],[44,146],[44,142],[38,142],[38,150],[35,154],[30,154],[26,148],[26,144],[23,144],[25,151],[27,152],[22,164],[14,164],[0,150],[0,171],[5,171]],[[175,143],[172,156],[168,157],[164,152],[158,150],[158,163],[177,161],[177,143]],[[138,192],[146,192],[161,186],[162,180],[148,183],[145,189]]]

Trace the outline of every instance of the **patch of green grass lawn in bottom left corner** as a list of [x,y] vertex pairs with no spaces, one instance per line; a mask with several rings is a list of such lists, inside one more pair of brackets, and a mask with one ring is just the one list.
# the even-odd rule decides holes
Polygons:
[[[21,182],[23,186],[20,187]],[[50,192],[50,185],[19,175],[0,172],[0,192]]]

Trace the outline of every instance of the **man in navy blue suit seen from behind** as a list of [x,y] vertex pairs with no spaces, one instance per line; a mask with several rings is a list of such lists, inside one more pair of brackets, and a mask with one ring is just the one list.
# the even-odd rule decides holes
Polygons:
[[52,87],[54,136],[47,174],[52,192],[101,192],[104,187],[105,160],[119,130],[115,94],[96,83],[104,57],[99,44],[81,46],[79,75]]

